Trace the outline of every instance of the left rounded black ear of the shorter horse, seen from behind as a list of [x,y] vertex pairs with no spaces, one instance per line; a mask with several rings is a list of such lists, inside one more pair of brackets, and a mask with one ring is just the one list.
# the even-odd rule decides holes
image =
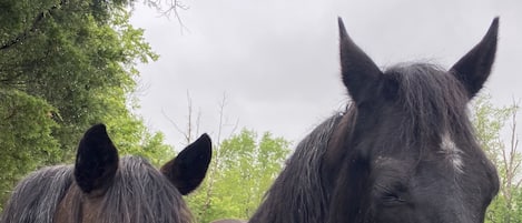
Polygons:
[[118,151],[110,141],[104,124],[91,126],[78,146],[75,180],[81,191],[107,189],[118,170]]

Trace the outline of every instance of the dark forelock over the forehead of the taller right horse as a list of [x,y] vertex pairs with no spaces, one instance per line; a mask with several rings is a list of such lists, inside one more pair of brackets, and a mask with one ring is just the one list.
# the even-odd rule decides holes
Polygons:
[[388,139],[404,145],[397,149],[414,150],[406,154],[418,153],[418,159],[443,154],[455,173],[462,172],[465,153],[482,153],[467,115],[470,98],[451,72],[430,63],[405,63],[385,75],[397,83],[396,103],[404,114],[400,126],[393,126],[398,139]]

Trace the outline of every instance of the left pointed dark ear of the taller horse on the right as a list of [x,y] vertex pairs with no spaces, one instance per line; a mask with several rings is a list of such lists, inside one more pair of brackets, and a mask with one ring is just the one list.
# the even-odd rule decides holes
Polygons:
[[355,103],[360,104],[365,101],[367,97],[374,95],[376,84],[382,77],[382,71],[372,59],[349,39],[341,18],[338,18],[338,26],[343,82],[348,89],[352,99]]

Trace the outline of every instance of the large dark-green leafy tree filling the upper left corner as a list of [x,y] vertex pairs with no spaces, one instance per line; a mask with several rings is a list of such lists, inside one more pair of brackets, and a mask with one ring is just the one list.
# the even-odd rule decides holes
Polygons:
[[130,116],[127,99],[138,78],[135,62],[157,58],[142,30],[128,23],[124,3],[3,1],[12,13],[2,12],[0,27],[13,24],[0,36],[1,87],[56,108],[53,136],[66,160],[90,124]]

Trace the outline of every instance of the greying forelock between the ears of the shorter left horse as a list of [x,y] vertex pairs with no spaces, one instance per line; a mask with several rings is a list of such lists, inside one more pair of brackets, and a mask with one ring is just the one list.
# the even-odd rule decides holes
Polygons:
[[[107,220],[107,223],[124,222],[118,221],[118,211],[120,213],[128,211],[132,220],[129,223],[193,222],[181,193],[146,159],[124,156],[119,174],[105,197],[104,206],[107,207],[107,212],[112,212],[115,217]],[[120,201],[117,201],[118,197]],[[110,210],[110,206],[115,209]]]

